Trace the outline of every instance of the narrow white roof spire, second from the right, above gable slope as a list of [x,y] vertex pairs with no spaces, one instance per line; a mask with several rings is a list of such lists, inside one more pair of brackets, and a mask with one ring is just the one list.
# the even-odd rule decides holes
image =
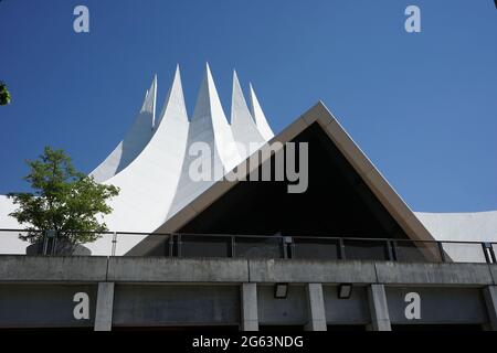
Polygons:
[[235,141],[239,143],[240,154],[243,159],[251,156],[265,142],[248,110],[236,71],[233,71],[231,129]]

